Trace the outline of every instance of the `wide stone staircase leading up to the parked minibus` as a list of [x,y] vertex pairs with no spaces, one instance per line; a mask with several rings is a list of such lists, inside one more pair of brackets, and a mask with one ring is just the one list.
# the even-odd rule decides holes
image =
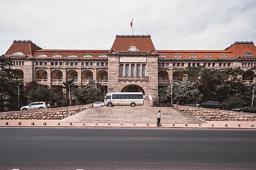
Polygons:
[[206,121],[190,114],[177,111],[172,107],[150,107],[149,101],[144,105],[114,107],[93,107],[70,117],[63,122],[126,122],[126,123],[156,123],[156,114],[161,111],[161,123],[201,124]]

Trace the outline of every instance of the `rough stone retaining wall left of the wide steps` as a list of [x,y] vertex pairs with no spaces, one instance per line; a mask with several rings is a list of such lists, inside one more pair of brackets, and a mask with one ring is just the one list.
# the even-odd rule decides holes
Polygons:
[[91,105],[2,112],[0,113],[0,120],[61,120],[89,108],[91,108]]

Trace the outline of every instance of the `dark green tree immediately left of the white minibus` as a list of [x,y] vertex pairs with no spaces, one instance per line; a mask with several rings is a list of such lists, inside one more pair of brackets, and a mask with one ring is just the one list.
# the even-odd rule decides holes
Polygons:
[[[96,88],[97,86],[97,88]],[[79,86],[73,90],[78,104],[90,104],[94,101],[104,101],[103,87],[100,83],[89,82],[86,86]]]

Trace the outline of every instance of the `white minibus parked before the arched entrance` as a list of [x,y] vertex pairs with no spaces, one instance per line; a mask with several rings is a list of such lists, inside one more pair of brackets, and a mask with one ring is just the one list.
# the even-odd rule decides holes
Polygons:
[[104,100],[104,105],[112,107],[113,105],[143,105],[144,96],[142,92],[113,92],[108,93]]

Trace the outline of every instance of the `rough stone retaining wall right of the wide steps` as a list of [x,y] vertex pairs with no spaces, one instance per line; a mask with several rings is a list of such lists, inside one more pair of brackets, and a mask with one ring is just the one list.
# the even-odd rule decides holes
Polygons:
[[174,105],[174,108],[206,121],[256,121],[255,113],[233,112]]

